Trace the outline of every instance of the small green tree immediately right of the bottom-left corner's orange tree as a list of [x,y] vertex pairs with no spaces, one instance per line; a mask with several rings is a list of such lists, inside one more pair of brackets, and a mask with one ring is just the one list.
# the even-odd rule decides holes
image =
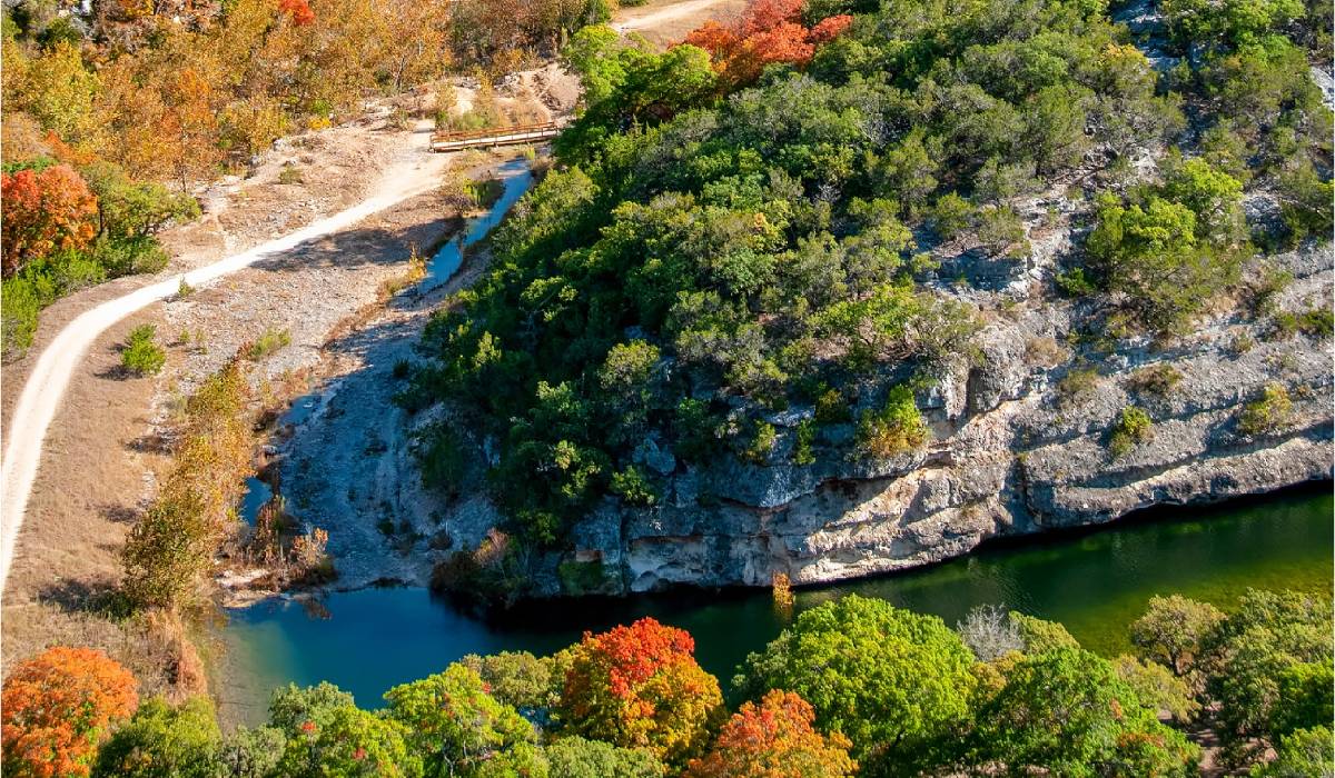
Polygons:
[[223,735],[203,695],[171,706],[154,697],[97,753],[95,778],[212,778]]

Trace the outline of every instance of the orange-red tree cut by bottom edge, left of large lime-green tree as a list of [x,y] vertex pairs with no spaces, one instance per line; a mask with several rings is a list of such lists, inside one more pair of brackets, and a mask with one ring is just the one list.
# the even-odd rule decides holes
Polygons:
[[857,770],[848,738],[821,735],[816,711],[792,691],[774,689],[760,705],[748,702],[724,725],[685,778],[844,778]]

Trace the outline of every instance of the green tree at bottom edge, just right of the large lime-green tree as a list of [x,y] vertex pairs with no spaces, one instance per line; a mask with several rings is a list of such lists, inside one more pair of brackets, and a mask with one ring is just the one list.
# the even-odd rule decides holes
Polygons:
[[1080,649],[1027,655],[975,717],[969,763],[1004,774],[1193,775],[1200,750],[1159,723],[1107,659]]

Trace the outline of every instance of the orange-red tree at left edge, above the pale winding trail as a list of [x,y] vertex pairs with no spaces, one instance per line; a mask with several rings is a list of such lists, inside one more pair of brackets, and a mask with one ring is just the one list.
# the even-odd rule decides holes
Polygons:
[[96,234],[97,199],[65,164],[0,173],[4,278],[57,248],[81,248]]

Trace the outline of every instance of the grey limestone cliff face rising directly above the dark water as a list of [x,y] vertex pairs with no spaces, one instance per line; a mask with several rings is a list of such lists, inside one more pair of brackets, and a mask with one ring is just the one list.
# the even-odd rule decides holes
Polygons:
[[[1294,276],[1280,311],[1328,303],[1330,246],[1267,262]],[[1027,268],[1012,272],[1023,279]],[[784,430],[774,464],[729,459],[676,472],[647,510],[609,500],[577,528],[577,551],[549,560],[541,589],[561,591],[562,560],[601,560],[598,589],[609,593],[768,586],[776,572],[797,583],[840,580],[957,556],[988,538],[1331,476],[1328,339],[1282,338],[1266,320],[1230,311],[1164,347],[1133,338],[1072,348],[1065,342],[1080,311],[1051,302],[1021,308],[993,318],[973,364],[961,362],[920,394],[934,432],[924,450],[880,463],[822,455],[822,440],[852,434],[833,426],[817,440],[816,462],[793,466],[793,428],[813,412],[793,408],[770,419]],[[1141,371],[1164,364],[1180,374],[1172,387],[1139,386]],[[1244,406],[1275,384],[1290,412],[1243,434]],[[1149,414],[1152,438],[1115,456],[1109,431],[1128,406]],[[653,442],[643,459],[674,472],[670,452]]]

